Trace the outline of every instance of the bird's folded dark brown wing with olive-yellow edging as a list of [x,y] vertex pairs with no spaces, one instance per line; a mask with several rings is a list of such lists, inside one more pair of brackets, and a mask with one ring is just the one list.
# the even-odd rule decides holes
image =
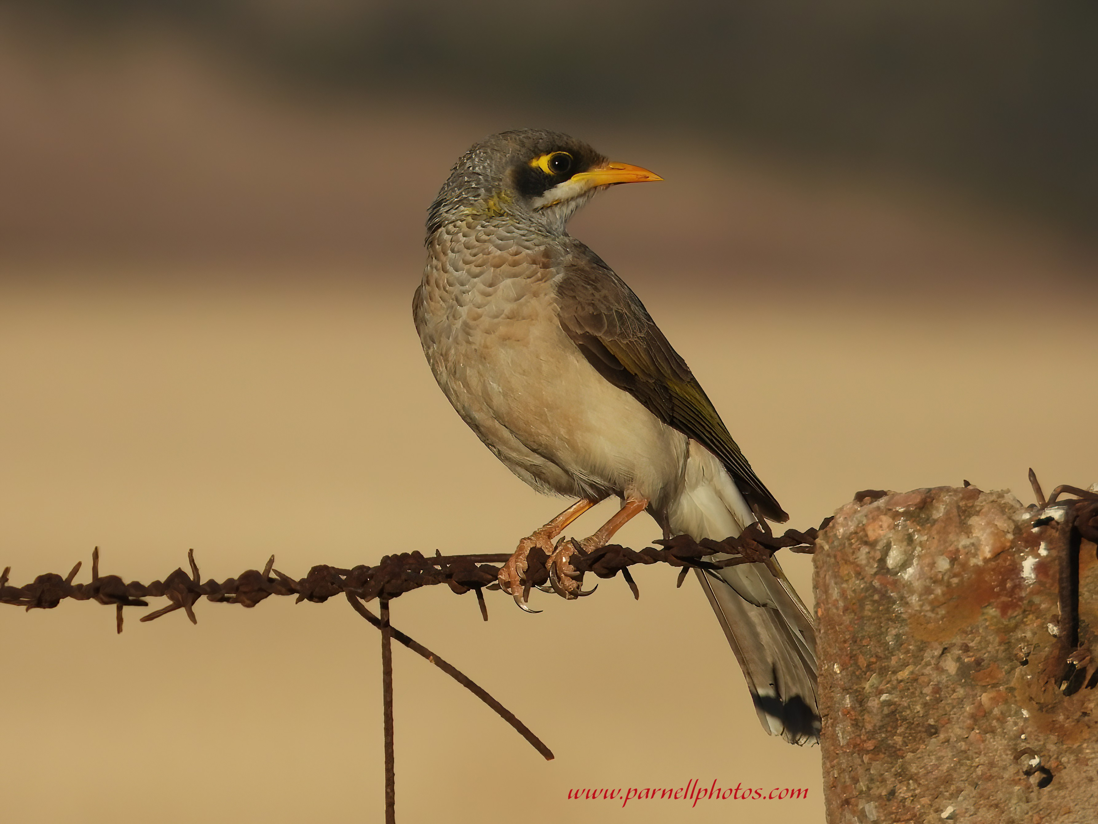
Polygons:
[[686,361],[613,269],[575,243],[556,286],[560,325],[598,374],[716,455],[764,516],[786,521]]

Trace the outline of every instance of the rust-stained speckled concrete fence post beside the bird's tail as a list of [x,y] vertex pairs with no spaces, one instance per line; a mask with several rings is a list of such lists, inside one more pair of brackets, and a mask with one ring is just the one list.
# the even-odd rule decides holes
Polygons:
[[[1066,530],[1037,514],[1008,492],[940,487],[853,501],[820,534],[830,824],[1098,820],[1098,671],[1057,687]],[[1093,650],[1094,544],[1080,568]]]

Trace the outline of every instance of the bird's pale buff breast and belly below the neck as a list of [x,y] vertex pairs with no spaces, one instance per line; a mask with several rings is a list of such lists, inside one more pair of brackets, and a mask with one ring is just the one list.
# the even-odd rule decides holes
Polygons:
[[682,486],[686,437],[586,361],[557,322],[549,282],[498,288],[484,300],[417,297],[424,352],[455,409],[534,487],[662,510]]

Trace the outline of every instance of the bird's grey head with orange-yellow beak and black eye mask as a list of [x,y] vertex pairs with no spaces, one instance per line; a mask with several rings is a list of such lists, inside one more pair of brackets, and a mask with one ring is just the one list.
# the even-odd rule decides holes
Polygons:
[[477,216],[563,233],[568,219],[596,191],[661,179],[639,166],[612,163],[560,132],[501,132],[473,144],[455,164],[427,214],[427,237],[448,223]]

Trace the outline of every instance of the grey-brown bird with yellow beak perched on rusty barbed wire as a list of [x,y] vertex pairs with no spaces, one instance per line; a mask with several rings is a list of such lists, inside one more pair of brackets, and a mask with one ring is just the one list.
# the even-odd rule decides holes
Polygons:
[[[646,511],[664,537],[695,541],[788,517],[637,296],[565,229],[595,192],[661,179],[568,135],[518,130],[466,152],[430,207],[413,314],[438,386],[511,471],[575,499],[500,572],[523,609],[534,547],[558,593],[583,594],[572,542],[553,541],[610,495],[621,509],[579,542],[586,552]],[[816,739],[816,632],[777,561],[698,580],[763,727]]]

